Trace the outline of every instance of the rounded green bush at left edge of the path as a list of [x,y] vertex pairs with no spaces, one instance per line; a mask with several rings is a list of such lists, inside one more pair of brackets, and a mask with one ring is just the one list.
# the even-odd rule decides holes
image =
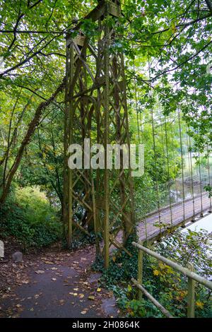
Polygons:
[[49,246],[61,239],[57,211],[38,189],[16,189],[0,209],[1,237],[12,236],[23,249]]

